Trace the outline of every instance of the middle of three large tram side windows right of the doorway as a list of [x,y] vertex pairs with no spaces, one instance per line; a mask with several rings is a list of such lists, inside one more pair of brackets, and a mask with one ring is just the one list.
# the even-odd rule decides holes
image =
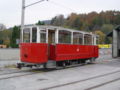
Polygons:
[[81,33],[73,32],[73,44],[82,44],[83,35]]

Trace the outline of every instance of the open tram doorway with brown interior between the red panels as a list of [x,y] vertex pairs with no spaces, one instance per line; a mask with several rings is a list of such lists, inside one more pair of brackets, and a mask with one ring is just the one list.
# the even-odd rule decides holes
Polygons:
[[50,45],[55,44],[55,30],[48,30],[48,57],[50,56]]

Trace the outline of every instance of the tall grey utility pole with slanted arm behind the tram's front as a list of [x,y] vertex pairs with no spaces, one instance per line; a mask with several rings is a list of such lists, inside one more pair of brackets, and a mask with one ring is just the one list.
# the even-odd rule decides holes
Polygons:
[[24,21],[25,21],[25,9],[27,8],[27,7],[30,7],[30,6],[32,6],[32,5],[35,5],[35,4],[37,4],[37,3],[40,3],[40,2],[43,2],[43,1],[48,1],[48,0],[40,0],[40,1],[37,1],[37,2],[35,2],[35,3],[32,3],[32,4],[29,4],[29,5],[27,5],[27,6],[25,6],[25,0],[22,0],[22,14],[21,14],[21,35],[20,35],[20,41],[22,42],[23,41],[23,38],[22,38],[22,36],[23,36],[23,27],[24,27]]

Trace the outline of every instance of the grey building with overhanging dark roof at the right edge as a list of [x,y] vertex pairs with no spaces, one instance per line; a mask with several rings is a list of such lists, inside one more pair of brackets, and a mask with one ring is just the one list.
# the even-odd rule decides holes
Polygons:
[[117,26],[112,32],[110,32],[108,37],[113,38],[112,45],[112,56],[114,58],[120,57],[120,25]]

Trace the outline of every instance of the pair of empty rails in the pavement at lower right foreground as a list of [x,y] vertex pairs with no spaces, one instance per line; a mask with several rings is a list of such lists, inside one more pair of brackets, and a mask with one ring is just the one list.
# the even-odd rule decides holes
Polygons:
[[[89,80],[101,78],[101,77],[104,77],[104,76],[109,76],[109,75],[112,75],[112,74],[115,74],[115,73],[119,73],[119,72],[120,72],[120,70],[115,71],[115,72],[111,72],[111,73],[107,73],[107,74],[103,74],[103,75],[98,75],[98,76],[90,77],[90,78],[83,79],[83,80],[78,80],[78,81],[69,82],[69,83],[60,84],[60,85],[55,85],[55,86],[51,86],[51,87],[47,87],[47,88],[43,88],[43,89],[39,89],[39,90],[49,90],[49,89],[60,88],[60,87],[63,87],[63,86],[68,86],[68,85],[72,85],[72,84],[77,84],[77,83],[81,83],[81,82],[85,82],[85,81],[89,81]],[[92,89],[101,87],[103,85],[106,85],[106,84],[109,84],[109,83],[112,83],[112,82],[115,82],[115,81],[118,81],[118,80],[120,80],[120,78],[117,78],[117,79],[114,79],[114,80],[110,80],[108,82],[104,82],[102,84],[99,84],[99,85],[96,85],[96,86],[93,86],[93,87],[89,87],[89,88],[87,88],[85,90],[92,90]]]

